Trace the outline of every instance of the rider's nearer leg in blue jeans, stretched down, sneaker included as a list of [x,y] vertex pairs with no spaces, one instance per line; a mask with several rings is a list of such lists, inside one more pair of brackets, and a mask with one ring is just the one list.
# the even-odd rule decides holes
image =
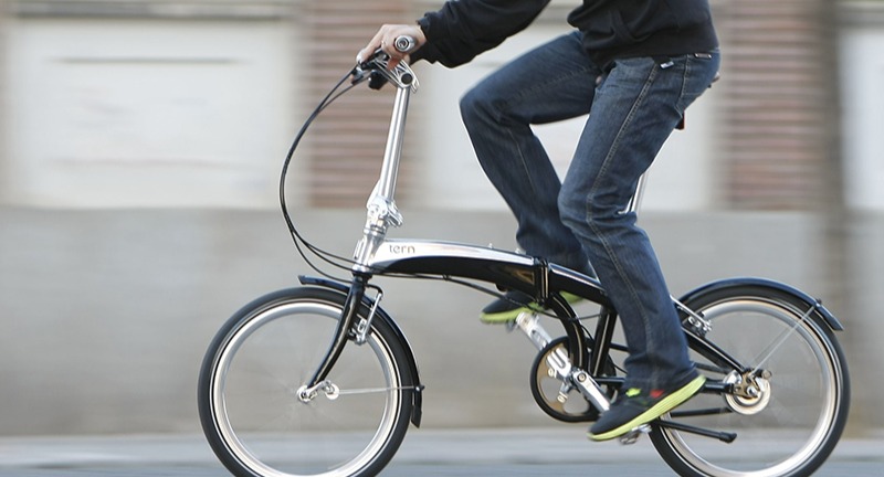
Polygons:
[[651,243],[624,209],[684,109],[712,83],[717,62],[717,54],[617,61],[596,93],[559,195],[561,219],[623,324],[630,356],[621,398],[640,403],[604,413],[590,431],[597,439],[655,418],[702,386]]

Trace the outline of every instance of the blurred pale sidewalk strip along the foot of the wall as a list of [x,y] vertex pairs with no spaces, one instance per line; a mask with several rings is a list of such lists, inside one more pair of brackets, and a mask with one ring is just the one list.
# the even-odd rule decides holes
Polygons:
[[[650,439],[590,443],[579,426],[514,430],[410,430],[397,464],[659,462]],[[771,442],[771,445],[775,445]],[[842,438],[829,463],[872,464],[884,475],[884,430]],[[189,466],[222,469],[202,435],[0,437],[0,475],[12,469]],[[27,473],[21,473],[25,475]],[[31,474],[27,474],[31,475]],[[78,475],[78,474],[77,474]]]

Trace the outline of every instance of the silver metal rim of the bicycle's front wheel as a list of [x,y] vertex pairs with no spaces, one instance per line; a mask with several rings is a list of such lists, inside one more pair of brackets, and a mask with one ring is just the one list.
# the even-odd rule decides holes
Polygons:
[[[275,445],[273,443],[274,437],[264,437],[267,439],[267,443],[260,441],[246,442],[246,439],[242,437],[242,430],[238,428],[238,424],[234,423],[234,420],[232,418],[227,392],[230,378],[229,374],[231,367],[235,364],[238,354],[242,347],[251,337],[253,337],[267,325],[285,319],[286,317],[295,317],[301,315],[325,317],[329,319],[329,322],[335,322],[340,317],[340,307],[337,305],[316,301],[294,301],[284,305],[277,305],[256,314],[244,326],[238,328],[231,333],[227,341],[227,346],[224,346],[223,351],[218,357],[218,364],[215,365],[214,373],[212,375],[211,405],[214,424],[217,426],[219,436],[230,453],[235,456],[235,458],[244,467],[259,475],[267,477],[291,477],[298,475],[323,475],[329,477],[350,476],[370,465],[377,455],[382,452],[397,422],[397,410],[399,409],[400,399],[398,389],[400,388],[400,382],[398,381],[398,374],[394,369],[394,360],[390,350],[375,332],[370,333],[367,342],[358,348],[365,349],[365,347],[368,347],[372,351],[373,356],[377,357],[377,361],[381,364],[379,373],[382,374],[386,386],[382,388],[382,391],[378,392],[383,394],[382,398],[385,404],[382,406],[380,418],[377,421],[377,428],[375,430],[373,434],[368,437],[367,443],[361,452],[359,452],[356,456],[341,456],[339,458],[335,458],[335,460],[330,464],[324,464],[303,473],[281,470],[280,468],[276,468],[276,466],[269,465],[266,463],[266,457],[259,455],[260,453],[255,451],[255,446],[259,443],[265,448],[272,448]],[[328,335],[320,337],[320,339],[330,340],[332,333],[329,332]],[[350,344],[348,349],[349,348],[357,348],[357,346]],[[309,363],[309,367],[316,367],[317,364],[318,360],[314,360]],[[302,377],[301,380],[305,378]],[[297,399],[297,388],[299,386],[290,385],[287,386],[287,391],[291,393],[291,400],[293,403],[298,402],[301,405],[303,405],[301,400]],[[325,398],[317,398],[317,400],[323,399]],[[305,444],[311,443],[314,441],[313,437],[319,435],[320,432],[322,430],[305,432],[302,436],[302,442]],[[354,437],[333,436],[330,438],[346,444],[348,438]],[[354,445],[362,447],[361,441]]]

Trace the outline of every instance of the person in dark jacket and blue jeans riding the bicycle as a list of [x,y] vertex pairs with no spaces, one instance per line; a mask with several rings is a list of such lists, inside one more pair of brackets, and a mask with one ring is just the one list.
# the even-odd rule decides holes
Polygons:
[[[459,66],[524,30],[548,3],[450,0],[417,24],[381,26],[359,55],[382,49],[390,67],[419,60]],[[604,441],[667,413],[705,382],[688,359],[648,235],[625,208],[720,60],[708,0],[583,0],[568,23],[573,32],[509,62],[460,106],[478,161],[516,216],[519,247],[586,274],[594,269],[621,316],[625,383],[588,432]],[[402,35],[415,40],[407,53],[393,47]],[[530,126],[587,114],[560,181]],[[532,300],[509,292],[482,320],[514,320]]]

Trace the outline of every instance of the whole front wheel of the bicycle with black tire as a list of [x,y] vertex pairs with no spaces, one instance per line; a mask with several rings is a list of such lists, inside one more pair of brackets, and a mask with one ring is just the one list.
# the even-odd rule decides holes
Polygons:
[[[259,298],[218,332],[200,370],[206,437],[236,476],[369,476],[408,431],[413,372],[402,343],[376,317],[365,343],[347,343],[326,384],[304,392],[346,296],[294,288]],[[361,306],[356,322],[367,319]]]

